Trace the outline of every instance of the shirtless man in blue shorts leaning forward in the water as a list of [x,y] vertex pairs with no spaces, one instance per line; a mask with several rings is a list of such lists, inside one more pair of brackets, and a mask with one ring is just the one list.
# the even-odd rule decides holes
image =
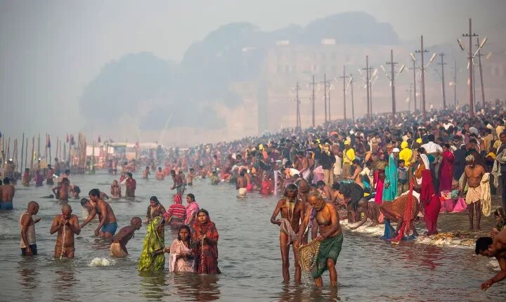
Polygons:
[[82,206],[86,209],[91,209],[88,218],[81,225],[87,225],[95,216],[98,214],[98,228],[95,230],[95,236],[112,238],[115,235],[117,229],[116,216],[112,211],[110,205],[100,199],[100,190],[93,189],[89,192],[89,200],[84,199],[81,201]]

